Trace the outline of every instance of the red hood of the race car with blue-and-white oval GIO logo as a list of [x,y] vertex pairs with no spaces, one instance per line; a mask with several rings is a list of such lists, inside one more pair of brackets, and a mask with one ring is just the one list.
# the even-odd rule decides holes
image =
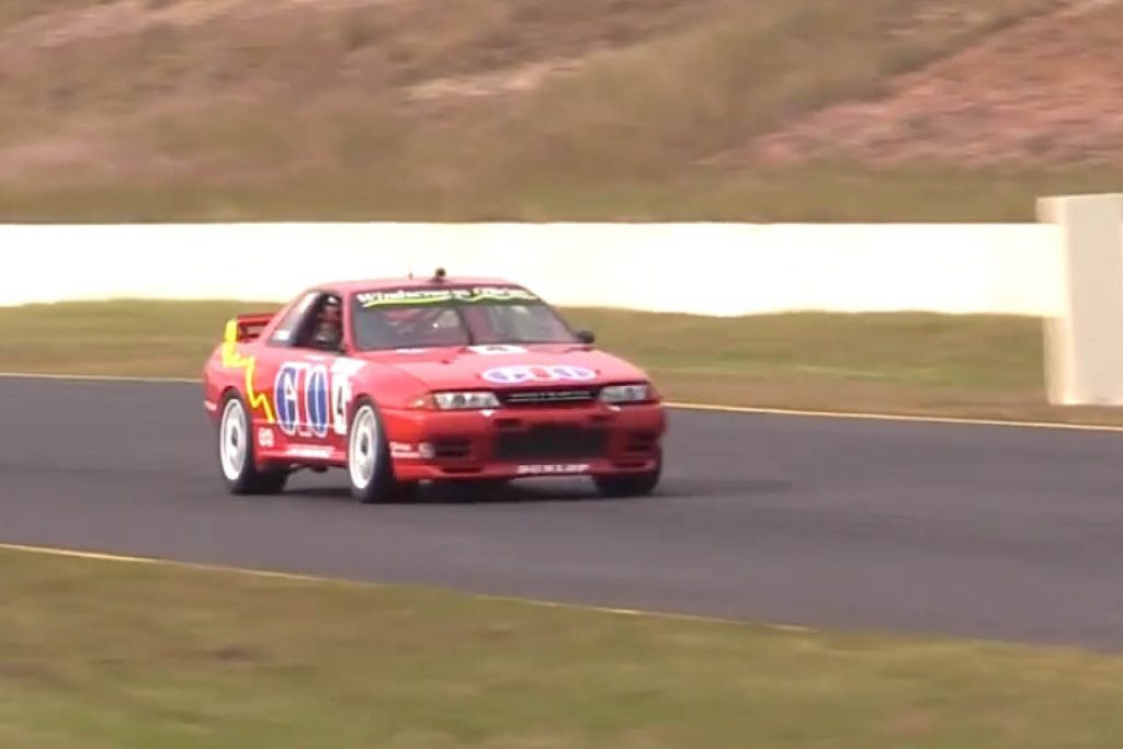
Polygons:
[[474,346],[362,355],[432,390],[579,386],[646,381],[620,357],[586,346]]

